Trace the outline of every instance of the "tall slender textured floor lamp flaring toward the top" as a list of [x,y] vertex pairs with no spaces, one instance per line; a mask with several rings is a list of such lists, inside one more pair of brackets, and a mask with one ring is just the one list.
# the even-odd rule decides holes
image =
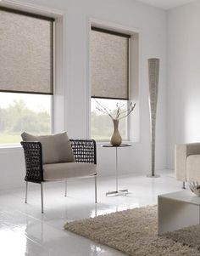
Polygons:
[[149,79],[149,111],[151,122],[151,150],[152,150],[152,172],[147,177],[157,178],[155,174],[155,135],[156,135],[156,110],[158,101],[158,81],[159,81],[159,59],[148,59],[148,79]]

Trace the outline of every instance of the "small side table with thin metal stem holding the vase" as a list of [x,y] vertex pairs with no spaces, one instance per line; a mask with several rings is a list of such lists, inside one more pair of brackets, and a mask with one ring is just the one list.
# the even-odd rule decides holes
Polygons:
[[125,189],[125,190],[120,190],[118,189],[118,149],[120,147],[126,147],[126,146],[131,146],[131,144],[120,144],[120,145],[111,145],[111,144],[104,144],[102,145],[103,147],[105,148],[115,148],[115,152],[116,152],[116,155],[115,155],[115,171],[116,171],[116,190],[115,191],[108,191],[106,193],[106,196],[119,196],[119,195],[126,195],[128,194],[128,190]]

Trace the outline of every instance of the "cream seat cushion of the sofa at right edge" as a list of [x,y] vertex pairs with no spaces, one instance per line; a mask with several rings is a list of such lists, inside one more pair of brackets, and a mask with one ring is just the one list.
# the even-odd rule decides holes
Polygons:
[[200,155],[186,157],[186,180],[200,181]]

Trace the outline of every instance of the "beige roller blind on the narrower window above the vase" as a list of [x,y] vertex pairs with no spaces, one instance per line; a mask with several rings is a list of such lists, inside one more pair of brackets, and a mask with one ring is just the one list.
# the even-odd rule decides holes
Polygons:
[[129,99],[129,37],[92,27],[92,97]]

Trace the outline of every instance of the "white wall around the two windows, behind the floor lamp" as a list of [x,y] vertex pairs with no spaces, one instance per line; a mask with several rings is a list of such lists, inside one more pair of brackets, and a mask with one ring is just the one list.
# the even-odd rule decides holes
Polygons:
[[[65,67],[65,129],[71,138],[88,137],[88,20],[94,18],[120,26],[136,28],[140,33],[140,142],[131,148],[121,149],[119,169],[121,174],[150,171],[150,128],[148,111],[147,59],[160,58],[160,82],[158,95],[158,122],[156,144],[156,168],[166,167],[165,151],[165,70],[166,70],[166,13],[137,3],[134,0],[24,0],[25,3],[42,5],[66,12],[66,60]],[[139,107],[139,105],[137,106]],[[134,113],[133,113],[134,115]],[[134,132],[134,131],[133,131]],[[4,154],[4,155],[3,155]],[[5,157],[6,154],[6,157]],[[22,152],[0,150],[5,157],[0,172],[6,173],[9,159],[13,159],[14,177],[22,176]],[[16,157],[18,156],[18,157]],[[114,174],[114,151],[97,145],[99,174]],[[10,163],[11,164],[11,163]],[[11,164],[11,165],[12,165]],[[12,169],[9,165],[9,169]],[[9,172],[10,174],[10,172]],[[12,175],[12,174],[10,174]],[[14,179],[16,180],[16,179]],[[20,182],[10,181],[11,185]],[[4,180],[0,179],[4,186]],[[8,186],[8,184],[7,184]]]

